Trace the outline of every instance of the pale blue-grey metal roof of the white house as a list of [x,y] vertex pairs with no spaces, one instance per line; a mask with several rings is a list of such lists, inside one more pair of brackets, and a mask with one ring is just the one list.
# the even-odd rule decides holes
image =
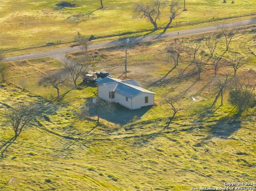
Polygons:
[[[102,79],[100,82],[102,82],[104,79]],[[105,81],[109,81],[109,79]],[[136,85],[133,85],[133,84],[136,84]],[[126,80],[126,81],[114,81],[110,83],[101,83],[98,85],[104,85],[109,91],[119,93],[128,98],[133,98],[134,96],[139,95],[140,93],[143,93],[143,92],[156,94],[152,91],[142,88],[141,85],[135,79]]]

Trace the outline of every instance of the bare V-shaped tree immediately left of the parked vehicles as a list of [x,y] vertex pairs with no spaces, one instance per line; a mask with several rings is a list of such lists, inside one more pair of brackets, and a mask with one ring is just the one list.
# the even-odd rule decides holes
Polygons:
[[66,60],[64,62],[64,67],[68,71],[69,75],[72,77],[73,83],[75,87],[77,79],[82,75],[82,73],[86,70],[88,67],[88,64],[90,63],[90,58],[85,57],[83,59],[76,60]]

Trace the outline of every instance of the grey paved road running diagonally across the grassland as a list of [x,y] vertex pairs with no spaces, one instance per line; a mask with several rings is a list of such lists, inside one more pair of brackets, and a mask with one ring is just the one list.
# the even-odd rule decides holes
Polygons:
[[[247,25],[252,25],[252,24],[256,24],[256,18],[237,21],[237,22],[230,22],[230,23],[226,23],[224,25],[226,28],[232,28],[237,25],[247,26]],[[215,30],[218,30],[218,25],[205,26],[205,27],[193,28],[193,29],[182,30],[182,31],[167,32],[167,33],[162,33],[162,34],[134,37],[134,38],[130,39],[129,43],[140,43],[140,42],[151,41],[151,40],[155,40],[155,39],[176,37],[178,35],[178,33],[179,33],[179,36],[182,36],[182,35],[192,35],[192,34],[197,34],[197,33],[207,33],[207,32],[212,32]],[[118,46],[118,45],[124,45],[125,43],[126,43],[126,39],[101,42],[101,43],[93,43],[89,46],[89,49],[113,47],[113,46]],[[35,53],[24,54],[24,55],[10,56],[10,57],[6,57],[5,60],[6,61],[18,61],[18,60],[32,59],[32,58],[38,58],[38,57],[48,57],[48,56],[52,56],[52,55],[70,53],[70,52],[79,51],[79,50],[80,50],[80,46],[67,47],[67,48],[62,48],[62,49],[55,49],[55,50],[35,52]]]

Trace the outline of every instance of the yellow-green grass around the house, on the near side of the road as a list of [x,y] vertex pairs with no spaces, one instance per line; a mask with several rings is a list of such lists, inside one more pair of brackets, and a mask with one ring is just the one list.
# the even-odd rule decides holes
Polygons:
[[[166,73],[166,43],[169,42],[156,41],[130,47],[128,76],[136,77],[145,86]],[[256,69],[255,57],[248,51],[256,51],[252,46],[254,43],[255,35],[248,30],[237,35],[231,44],[232,51],[240,51],[246,57],[253,58],[241,70]],[[123,53],[122,49],[116,48],[101,50],[96,67],[108,69],[117,77],[123,69]],[[59,66],[60,63],[52,59],[12,63],[10,81],[18,85],[20,77],[24,77],[30,92],[22,93],[10,84],[0,88],[0,112],[4,112],[3,103],[12,105],[22,100],[44,103],[45,100],[37,95],[50,99],[56,92],[36,85],[46,69]],[[154,75],[148,76],[152,69]],[[220,73],[227,69],[230,68],[225,67]],[[203,79],[188,91],[182,103],[190,104],[187,96],[199,91],[211,75],[212,72],[204,71]],[[195,79],[186,79],[174,92],[183,91]],[[80,89],[64,96],[60,104],[49,103],[53,113],[38,118],[37,126],[26,128],[9,148],[6,158],[2,159],[1,188],[188,190],[192,186],[223,186],[223,182],[254,181],[256,118],[251,116],[252,110],[232,120],[228,114],[233,107],[225,98],[224,106],[209,117],[205,115],[205,109],[213,96],[212,91],[204,91],[201,96],[207,100],[193,102],[187,112],[178,114],[170,129],[160,132],[171,112],[162,103],[162,95],[176,85],[174,82],[150,87],[158,93],[156,101],[160,106],[136,111],[117,107],[112,115],[102,117],[97,128],[94,128],[96,123],[93,117],[79,120],[74,114],[85,100],[88,102],[87,99],[94,96],[95,87],[81,85]],[[62,89],[62,93],[70,86]],[[138,120],[132,120],[135,115]],[[12,136],[12,130],[1,116],[0,126],[1,142],[4,142]],[[72,140],[76,138],[81,140]]]

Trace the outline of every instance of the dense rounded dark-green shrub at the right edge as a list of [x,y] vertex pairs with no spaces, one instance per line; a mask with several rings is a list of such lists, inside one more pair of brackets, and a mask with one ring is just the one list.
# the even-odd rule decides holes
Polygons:
[[232,105],[237,106],[240,111],[256,104],[255,95],[248,90],[232,90],[229,93],[229,101]]

